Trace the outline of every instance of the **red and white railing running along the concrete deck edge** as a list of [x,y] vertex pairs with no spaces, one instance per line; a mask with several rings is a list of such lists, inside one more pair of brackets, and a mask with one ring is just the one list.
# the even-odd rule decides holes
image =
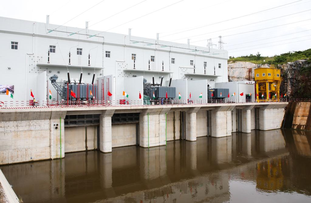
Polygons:
[[[304,101],[304,99],[269,99],[261,102],[287,102],[287,101]],[[305,101],[310,101],[306,99]],[[221,100],[104,100],[104,101],[0,101],[0,108],[12,107],[88,107],[88,106],[158,106],[158,105],[200,105],[200,104],[230,104],[230,103],[258,103],[256,100],[245,99],[221,99]]]

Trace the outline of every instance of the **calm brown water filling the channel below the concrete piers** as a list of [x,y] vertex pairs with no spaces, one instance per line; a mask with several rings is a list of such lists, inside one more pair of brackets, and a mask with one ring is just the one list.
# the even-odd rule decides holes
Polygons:
[[311,202],[311,132],[253,131],[0,166],[26,202]]

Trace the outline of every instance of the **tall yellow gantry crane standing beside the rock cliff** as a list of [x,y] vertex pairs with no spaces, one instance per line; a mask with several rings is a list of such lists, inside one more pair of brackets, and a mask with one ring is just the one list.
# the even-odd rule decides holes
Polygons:
[[281,70],[277,69],[274,65],[270,65],[270,68],[256,68],[257,102],[269,100],[279,101],[281,81]]

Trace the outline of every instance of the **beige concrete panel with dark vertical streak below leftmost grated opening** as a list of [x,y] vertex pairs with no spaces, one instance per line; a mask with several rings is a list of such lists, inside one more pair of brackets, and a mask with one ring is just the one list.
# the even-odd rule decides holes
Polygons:
[[65,153],[97,148],[97,126],[65,128]]

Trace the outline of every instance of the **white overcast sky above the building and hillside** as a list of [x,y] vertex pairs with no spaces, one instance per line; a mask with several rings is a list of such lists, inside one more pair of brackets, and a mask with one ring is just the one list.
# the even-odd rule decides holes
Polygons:
[[[173,3],[176,4],[169,6]],[[1,4],[2,17],[45,22],[48,14],[50,23],[58,25],[98,4],[64,26],[85,28],[85,21],[89,21],[92,30],[113,28],[109,31],[128,34],[128,28],[132,28],[135,36],[155,38],[160,33],[160,40],[187,43],[189,38],[191,44],[204,47],[207,39],[216,38],[212,40],[217,44],[213,48],[218,47],[217,37],[222,35],[224,49],[235,57],[258,51],[272,56],[311,48],[311,0],[17,0]],[[138,5],[132,7],[135,4]],[[284,4],[288,5],[281,6]],[[104,20],[128,7],[132,8]],[[270,9],[273,7],[277,8]],[[161,10],[154,12],[158,9]],[[263,10],[267,11],[260,12]],[[258,13],[248,15],[255,12]],[[151,14],[141,17],[148,13]],[[241,17],[244,15],[248,16]],[[131,21],[138,17],[141,18]],[[233,18],[236,19],[230,20]],[[118,26],[123,23],[126,24]],[[201,28],[195,29],[198,27]],[[239,34],[242,32],[246,33]]]

